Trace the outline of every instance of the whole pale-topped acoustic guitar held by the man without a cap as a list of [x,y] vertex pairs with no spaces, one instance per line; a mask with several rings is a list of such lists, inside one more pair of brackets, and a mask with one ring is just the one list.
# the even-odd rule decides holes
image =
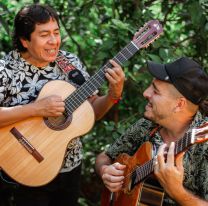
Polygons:
[[[159,21],[147,22],[113,60],[123,65],[161,33]],[[66,105],[64,115],[58,118],[27,118],[0,128],[0,168],[12,179],[27,186],[45,185],[55,178],[69,142],[87,133],[94,124],[94,111],[87,98],[105,82],[105,69],[109,67],[112,68],[112,65],[107,62],[78,89],[62,80],[46,83],[36,101],[58,94]]]

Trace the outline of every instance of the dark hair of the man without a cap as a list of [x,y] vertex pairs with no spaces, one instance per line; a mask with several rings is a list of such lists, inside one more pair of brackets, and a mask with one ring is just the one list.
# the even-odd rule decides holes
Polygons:
[[59,25],[58,14],[48,5],[32,4],[24,6],[14,19],[13,46],[20,52],[27,51],[20,38],[30,41],[30,35],[35,30],[36,24],[44,24],[50,19],[56,20]]

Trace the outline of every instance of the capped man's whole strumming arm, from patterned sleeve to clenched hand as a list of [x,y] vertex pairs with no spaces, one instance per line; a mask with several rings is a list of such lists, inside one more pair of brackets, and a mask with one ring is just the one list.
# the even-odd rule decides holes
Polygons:
[[146,135],[149,126],[145,119],[140,119],[130,126],[120,138],[117,138],[105,152],[97,156],[96,172],[111,192],[121,189],[126,168],[125,165],[118,162],[113,163],[113,159],[116,159],[122,153],[133,155],[139,145],[143,143],[142,136]]

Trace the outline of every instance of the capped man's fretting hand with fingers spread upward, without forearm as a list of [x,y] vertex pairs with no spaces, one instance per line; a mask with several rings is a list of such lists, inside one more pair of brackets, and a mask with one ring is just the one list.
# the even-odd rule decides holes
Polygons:
[[167,161],[165,162],[165,148],[166,144],[160,146],[157,154],[157,163],[154,167],[154,174],[160,182],[164,190],[170,197],[176,199],[177,195],[180,195],[180,190],[183,190],[183,155],[179,154],[176,159],[174,157],[175,143],[171,142],[168,153]]

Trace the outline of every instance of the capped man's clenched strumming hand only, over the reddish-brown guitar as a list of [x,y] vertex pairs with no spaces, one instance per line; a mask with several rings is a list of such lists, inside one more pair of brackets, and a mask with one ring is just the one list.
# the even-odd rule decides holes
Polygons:
[[118,162],[112,165],[105,165],[102,168],[102,180],[105,186],[111,192],[117,192],[121,189],[124,179],[124,169],[125,165]]

